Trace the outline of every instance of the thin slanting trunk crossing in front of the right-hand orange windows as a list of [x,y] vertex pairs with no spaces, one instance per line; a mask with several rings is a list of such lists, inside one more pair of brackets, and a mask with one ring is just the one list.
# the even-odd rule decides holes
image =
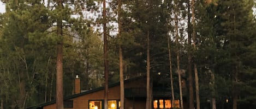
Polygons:
[[[169,29],[168,29],[169,31]],[[171,108],[174,107],[174,83],[172,79],[172,67],[171,67],[171,47],[170,47],[170,37],[167,35],[167,41],[168,41],[168,52],[169,52],[169,67],[170,67],[170,79],[171,79]]]

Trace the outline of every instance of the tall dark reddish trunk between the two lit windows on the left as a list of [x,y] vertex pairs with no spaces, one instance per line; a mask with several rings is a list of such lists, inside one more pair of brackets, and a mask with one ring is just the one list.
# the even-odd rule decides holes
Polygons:
[[108,40],[106,36],[106,1],[103,0],[103,42],[104,42],[104,108],[108,108],[108,92],[109,92],[109,63],[108,63]]

